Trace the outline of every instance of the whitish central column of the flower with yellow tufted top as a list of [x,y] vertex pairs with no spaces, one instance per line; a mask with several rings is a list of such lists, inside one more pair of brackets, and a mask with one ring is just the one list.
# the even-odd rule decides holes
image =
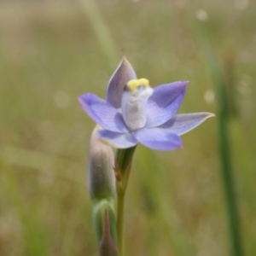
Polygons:
[[131,130],[143,128],[147,121],[148,97],[153,89],[147,79],[130,80],[125,85],[122,95],[121,109],[125,124]]

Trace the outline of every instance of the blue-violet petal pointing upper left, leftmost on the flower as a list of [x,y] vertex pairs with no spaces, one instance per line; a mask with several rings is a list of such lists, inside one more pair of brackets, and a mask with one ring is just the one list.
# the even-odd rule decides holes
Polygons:
[[86,93],[79,96],[79,102],[90,118],[104,129],[118,132],[128,131],[122,115],[102,98]]

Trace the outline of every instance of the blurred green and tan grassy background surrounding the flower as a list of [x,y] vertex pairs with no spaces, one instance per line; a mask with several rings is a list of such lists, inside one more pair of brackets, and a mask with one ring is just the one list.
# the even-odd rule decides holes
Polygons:
[[[152,86],[189,80],[179,113],[218,115],[199,23],[228,81],[244,255],[256,255],[256,2],[0,2],[0,255],[97,255],[86,190],[94,124],[123,55]],[[218,118],[182,149],[139,145],[125,201],[126,255],[230,255]]]

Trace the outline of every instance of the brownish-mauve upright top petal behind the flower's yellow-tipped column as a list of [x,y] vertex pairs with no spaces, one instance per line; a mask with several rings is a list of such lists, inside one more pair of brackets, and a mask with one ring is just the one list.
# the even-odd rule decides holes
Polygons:
[[125,84],[131,79],[137,79],[137,76],[130,62],[124,57],[108,82],[107,102],[114,108],[121,107]]

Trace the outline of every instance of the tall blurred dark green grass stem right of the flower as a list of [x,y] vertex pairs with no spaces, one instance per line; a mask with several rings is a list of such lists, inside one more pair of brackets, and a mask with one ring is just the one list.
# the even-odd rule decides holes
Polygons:
[[224,194],[227,206],[227,216],[230,226],[230,240],[232,245],[232,254],[234,256],[243,255],[241,244],[241,232],[239,226],[238,210],[236,205],[235,183],[232,173],[230,160],[230,140],[229,140],[229,104],[227,92],[224,83],[222,70],[218,66],[218,61],[215,58],[211,41],[207,33],[207,27],[204,22],[200,24],[201,46],[204,54],[207,57],[207,64],[212,75],[212,80],[216,86],[218,94],[218,132],[219,132],[219,152],[222,164],[222,177],[224,183]]

